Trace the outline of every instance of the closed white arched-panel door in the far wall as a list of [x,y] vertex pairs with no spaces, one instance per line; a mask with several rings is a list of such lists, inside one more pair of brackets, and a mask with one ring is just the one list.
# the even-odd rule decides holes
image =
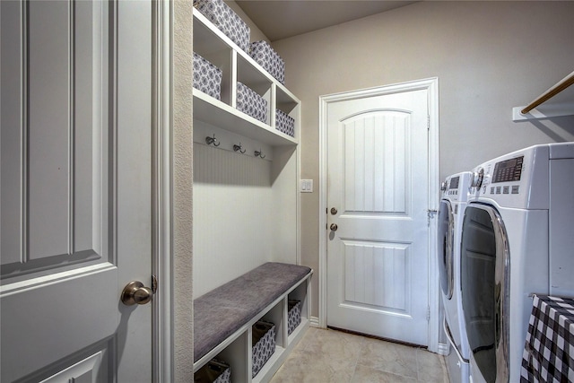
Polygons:
[[326,108],[327,326],[429,342],[427,104],[416,90]]

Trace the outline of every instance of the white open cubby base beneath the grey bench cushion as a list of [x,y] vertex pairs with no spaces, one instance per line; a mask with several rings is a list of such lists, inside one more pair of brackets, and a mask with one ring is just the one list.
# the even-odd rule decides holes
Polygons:
[[[309,275],[310,276],[310,275]],[[308,289],[310,278],[305,278],[295,284],[277,300],[274,300],[260,315],[242,326],[235,334],[230,335],[222,344],[216,346],[194,364],[198,378],[199,371],[213,359],[222,361],[230,366],[229,381],[231,383],[262,383],[273,378],[287,359],[291,350],[300,341],[309,328]],[[300,301],[300,324],[288,334],[289,300]],[[274,353],[253,376],[253,326],[259,321],[274,325]],[[196,380],[204,382],[205,380]],[[222,383],[228,380],[221,380]],[[219,383],[219,381],[218,381]]]

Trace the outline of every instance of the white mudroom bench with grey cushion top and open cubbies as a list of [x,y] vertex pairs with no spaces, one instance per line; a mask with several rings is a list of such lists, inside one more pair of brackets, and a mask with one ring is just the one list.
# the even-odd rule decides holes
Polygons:
[[[194,372],[215,360],[229,365],[233,383],[271,379],[309,327],[312,273],[306,266],[269,262],[194,300]],[[297,322],[290,323],[293,318]],[[253,326],[262,320],[274,325],[275,345],[256,368]]]

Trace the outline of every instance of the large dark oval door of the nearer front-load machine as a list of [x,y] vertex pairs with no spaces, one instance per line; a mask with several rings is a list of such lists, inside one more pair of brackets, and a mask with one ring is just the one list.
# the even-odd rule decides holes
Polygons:
[[487,382],[509,380],[509,245],[500,214],[490,205],[465,209],[461,293],[466,335]]

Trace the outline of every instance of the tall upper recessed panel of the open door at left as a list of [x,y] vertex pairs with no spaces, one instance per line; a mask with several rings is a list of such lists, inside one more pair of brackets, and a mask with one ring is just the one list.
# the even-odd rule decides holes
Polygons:
[[[19,33],[13,37],[13,53],[22,60],[13,82],[17,88],[11,87],[22,97],[13,98],[17,108],[3,109],[2,124],[2,151],[8,143],[19,143],[11,150],[19,152],[7,155],[11,161],[2,166],[2,208],[13,213],[3,214],[0,274],[11,282],[109,261],[108,212],[102,208],[107,196],[100,190],[108,184],[107,129],[100,118],[108,108],[108,13],[100,2],[3,7],[16,5],[21,17],[15,19],[21,24],[3,28],[10,36]],[[46,20],[54,18],[61,19],[57,33],[62,39],[46,44],[45,29],[53,24]],[[61,47],[52,50],[52,40],[62,41]],[[59,97],[51,91],[53,83]]]

